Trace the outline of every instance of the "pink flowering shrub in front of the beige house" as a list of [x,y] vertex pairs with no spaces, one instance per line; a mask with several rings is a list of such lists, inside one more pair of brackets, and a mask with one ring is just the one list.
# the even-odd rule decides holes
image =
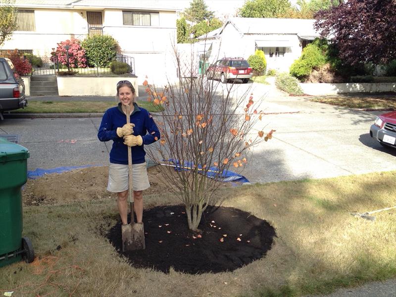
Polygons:
[[87,67],[87,57],[85,54],[85,49],[81,48],[80,40],[72,38],[71,40],[62,41],[57,44],[58,47],[55,51],[51,52],[51,61],[55,61],[55,56],[58,58],[60,64],[67,66],[67,54],[65,46],[69,46],[69,65],[70,68],[86,68]]

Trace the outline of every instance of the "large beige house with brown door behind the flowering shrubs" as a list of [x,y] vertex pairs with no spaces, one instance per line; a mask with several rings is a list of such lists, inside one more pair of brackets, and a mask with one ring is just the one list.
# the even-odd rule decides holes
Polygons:
[[16,0],[18,31],[1,49],[49,57],[57,43],[109,34],[134,58],[139,83],[176,75],[176,0]]

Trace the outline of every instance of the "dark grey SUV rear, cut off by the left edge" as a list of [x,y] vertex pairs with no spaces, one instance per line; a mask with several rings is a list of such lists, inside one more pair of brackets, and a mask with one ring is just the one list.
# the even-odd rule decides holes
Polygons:
[[8,58],[0,57],[0,118],[1,113],[28,105],[25,85]]

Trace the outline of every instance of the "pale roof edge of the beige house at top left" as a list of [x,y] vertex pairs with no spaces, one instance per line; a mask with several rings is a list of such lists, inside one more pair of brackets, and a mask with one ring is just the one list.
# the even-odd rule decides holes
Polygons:
[[15,0],[16,7],[33,8],[119,8],[178,11],[177,0]]

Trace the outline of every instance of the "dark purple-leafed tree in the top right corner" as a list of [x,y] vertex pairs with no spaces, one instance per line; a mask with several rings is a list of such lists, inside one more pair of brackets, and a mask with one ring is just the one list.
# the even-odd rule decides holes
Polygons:
[[396,59],[396,0],[347,0],[319,11],[315,29],[352,65]]

